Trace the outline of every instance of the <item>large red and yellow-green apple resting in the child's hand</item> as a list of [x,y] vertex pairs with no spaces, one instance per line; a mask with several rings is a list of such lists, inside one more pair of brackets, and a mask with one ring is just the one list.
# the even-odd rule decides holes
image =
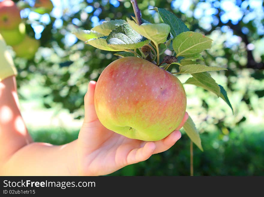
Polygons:
[[137,57],[120,58],[101,73],[95,111],[109,130],[131,139],[157,141],[181,123],[186,94],[179,79]]

